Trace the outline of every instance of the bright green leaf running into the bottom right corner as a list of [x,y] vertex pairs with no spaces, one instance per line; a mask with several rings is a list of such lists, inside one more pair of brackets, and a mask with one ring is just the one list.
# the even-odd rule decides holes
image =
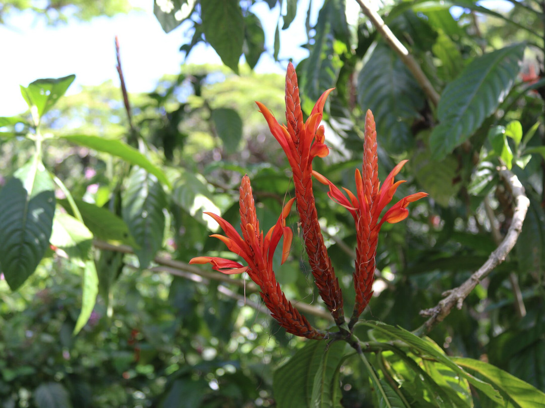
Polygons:
[[452,357],[452,361],[485,377],[517,408],[545,407],[545,393],[492,364],[462,357]]

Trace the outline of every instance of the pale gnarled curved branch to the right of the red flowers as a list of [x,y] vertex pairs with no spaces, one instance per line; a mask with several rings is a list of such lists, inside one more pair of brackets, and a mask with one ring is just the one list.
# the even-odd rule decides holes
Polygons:
[[498,248],[490,254],[483,266],[473,273],[468,280],[455,289],[443,293],[443,296],[446,297],[441,300],[437,306],[420,311],[421,316],[430,317],[422,326],[414,331],[414,334],[424,335],[428,333],[436,323],[443,321],[445,317],[450,314],[455,305],[458,309],[461,309],[463,301],[469,293],[471,293],[471,291],[475,289],[475,286],[477,286],[482,279],[486,278],[496,266],[505,260],[507,254],[510,253],[514,244],[516,244],[520,231],[522,230],[524,218],[526,218],[526,212],[530,206],[530,200],[528,200],[528,197],[524,194],[524,187],[522,187],[517,176],[505,167],[502,167],[499,170],[499,173],[500,177],[504,179],[507,187],[511,190],[514,200],[513,220],[507,230],[505,238]]

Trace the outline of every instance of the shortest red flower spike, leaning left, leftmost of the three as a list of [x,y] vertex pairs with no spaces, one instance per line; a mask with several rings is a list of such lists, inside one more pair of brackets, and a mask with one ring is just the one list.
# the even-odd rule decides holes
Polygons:
[[276,225],[272,227],[267,235],[263,237],[263,232],[259,230],[259,221],[256,217],[256,206],[253,200],[252,188],[248,176],[244,176],[240,184],[240,226],[242,237],[219,215],[206,213],[214,218],[225,232],[226,236],[214,234],[212,237],[221,239],[227,245],[227,248],[233,253],[243,257],[248,266],[243,266],[238,262],[223,259],[216,256],[198,256],[189,263],[210,263],[216,271],[235,274],[247,272],[250,278],[261,289],[261,297],[267,308],[271,311],[280,326],[292,333],[309,339],[323,339],[326,334],[314,329],[301,315],[297,309],[286,299],[276,281],[274,271],[272,271],[272,258],[275,249],[284,237],[282,263],[286,261],[289,254],[289,247],[292,242],[293,232],[286,226],[286,218],[292,208],[291,199],[282,209]]

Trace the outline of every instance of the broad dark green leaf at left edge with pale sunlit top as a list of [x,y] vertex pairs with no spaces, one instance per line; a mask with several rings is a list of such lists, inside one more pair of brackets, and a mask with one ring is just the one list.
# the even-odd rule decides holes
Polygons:
[[11,290],[27,280],[44,256],[54,212],[53,181],[33,158],[0,190],[0,270]]

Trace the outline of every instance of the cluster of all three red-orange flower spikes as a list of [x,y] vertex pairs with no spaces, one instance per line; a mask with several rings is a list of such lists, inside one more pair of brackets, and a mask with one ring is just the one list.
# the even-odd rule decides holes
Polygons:
[[[282,263],[286,261],[292,242],[293,232],[286,226],[293,202],[299,214],[305,249],[311,266],[314,282],[326,307],[331,312],[341,331],[352,329],[355,322],[369,303],[372,296],[375,256],[377,251],[378,233],[383,223],[397,223],[407,218],[407,206],[410,202],[427,196],[426,193],[411,194],[399,200],[395,205],[381,215],[386,205],[392,200],[399,184],[394,177],[401,171],[407,160],[402,161],[386,177],[382,186],[378,179],[377,133],[371,111],[367,111],[365,119],[364,164],[361,172],[356,170],[356,192],[348,189],[342,191],[323,175],[312,170],[312,160],[325,157],[329,148],[325,145],[324,127],[320,125],[323,116],[325,100],[332,89],[325,91],[312,109],[306,122],[303,121],[299,99],[299,87],[295,69],[290,63],[286,74],[286,122],[276,121],[272,113],[261,103],[259,110],[265,117],[269,129],[280,143],[292,167],[295,187],[295,198],[284,206],[275,226],[267,233],[259,229],[256,207],[253,200],[250,179],[244,176],[240,185],[240,228],[242,235],[219,215],[207,213],[214,218],[225,232],[224,235],[214,234],[221,239],[227,248],[241,256],[247,266],[220,257],[199,256],[190,263],[210,263],[216,271],[234,274],[247,272],[250,278],[259,286],[261,297],[271,315],[293,333],[310,339],[323,339],[328,336],[313,328],[293,305],[287,301],[272,270],[272,257],[283,237]],[[354,287],[356,290],[355,306],[348,326],[344,319],[343,298],[334,268],[331,265],[328,251],[324,244],[322,231],[318,223],[318,214],[312,186],[312,178],[329,186],[329,196],[332,200],[346,207],[352,214],[356,224],[357,248],[354,271]]]

